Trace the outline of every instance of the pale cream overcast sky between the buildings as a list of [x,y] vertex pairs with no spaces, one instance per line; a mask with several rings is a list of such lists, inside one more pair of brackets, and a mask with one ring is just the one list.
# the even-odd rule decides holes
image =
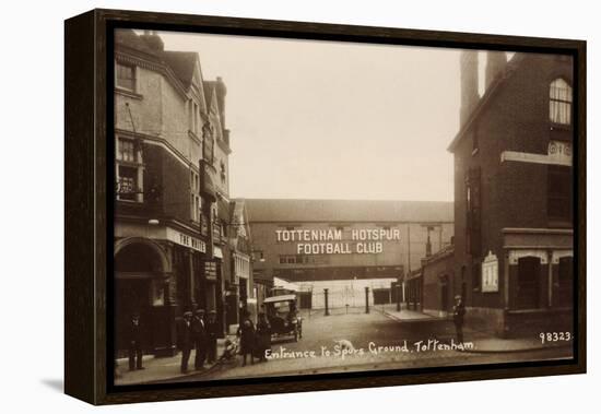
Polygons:
[[161,36],[227,85],[232,197],[453,199],[459,50]]

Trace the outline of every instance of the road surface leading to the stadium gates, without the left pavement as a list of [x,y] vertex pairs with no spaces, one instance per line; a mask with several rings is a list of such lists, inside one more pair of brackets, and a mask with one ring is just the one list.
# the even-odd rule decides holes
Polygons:
[[[267,363],[243,367],[238,359],[168,382],[527,362],[571,355],[566,346],[479,353],[476,344],[485,338],[483,333],[466,331],[461,345],[456,342],[455,328],[448,320],[399,321],[377,308],[369,314],[352,309],[349,315],[323,316],[322,311],[313,310],[310,318],[307,314],[303,316],[303,338],[297,343],[273,343]],[[352,348],[341,346],[337,342],[341,340],[352,344]]]

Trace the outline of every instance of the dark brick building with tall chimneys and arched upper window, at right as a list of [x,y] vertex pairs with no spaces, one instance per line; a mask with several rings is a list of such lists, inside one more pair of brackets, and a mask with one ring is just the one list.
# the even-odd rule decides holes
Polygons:
[[462,52],[452,289],[499,335],[569,329],[571,58],[490,51],[484,72],[480,97],[476,52]]

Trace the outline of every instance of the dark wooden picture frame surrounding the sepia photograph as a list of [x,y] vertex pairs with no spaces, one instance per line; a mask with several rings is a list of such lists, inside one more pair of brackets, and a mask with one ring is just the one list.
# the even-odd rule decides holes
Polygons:
[[[313,40],[514,50],[574,61],[574,358],[402,371],[239,379],[202,385],[113,385],[113,31],[167,29]],[[64,390],[93,404],[386,387],[586,372],[586,42],[347,26],[122,10],[93,10],[64,24]]]

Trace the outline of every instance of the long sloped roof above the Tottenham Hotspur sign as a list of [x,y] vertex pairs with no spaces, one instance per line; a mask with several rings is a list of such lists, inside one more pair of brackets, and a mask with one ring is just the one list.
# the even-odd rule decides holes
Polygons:
[[449,201],[245,199],[250,223],[452,222]]

